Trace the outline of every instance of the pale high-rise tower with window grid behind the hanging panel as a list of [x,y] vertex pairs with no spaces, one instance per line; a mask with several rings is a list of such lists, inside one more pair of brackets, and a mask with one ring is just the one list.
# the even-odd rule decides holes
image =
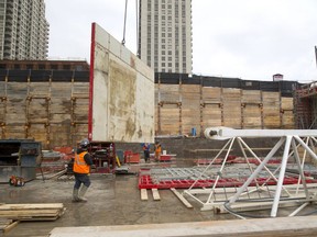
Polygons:
[[156,72],[192,74],[192,0],[140,0],[139,56]]

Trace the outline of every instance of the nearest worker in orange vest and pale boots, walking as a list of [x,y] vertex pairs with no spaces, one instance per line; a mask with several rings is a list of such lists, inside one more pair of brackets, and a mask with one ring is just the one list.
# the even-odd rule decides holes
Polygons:
[[87,202],[84,198],[91,182],[89,179],[90,167],[94,165],[88,150],[89,140],[83,139],[79,144],[79,148],[75,154],[74,159],[74,176],[75,184],[73,189],[73,202]]

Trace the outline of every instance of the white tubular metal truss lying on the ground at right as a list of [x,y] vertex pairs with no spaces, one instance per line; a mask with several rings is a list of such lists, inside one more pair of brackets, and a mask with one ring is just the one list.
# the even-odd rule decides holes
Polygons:
[[[211,168],[214,161],[227,150],[214,185],[209,189],[197,190],[194,189],[194,182],[189,189],[183,192],[185,198],[200,203],[203,205],[201,211],[215,210],[220,213],[230,212],[236,216],[244,218],[248,215],[240,213],[254,210],[269,210],[269,217],[276,217],[278,207],[296,206],[296,208],[288,214],[289,216],[294,216],[310,203],[317,201],[316,180],[310,176],[311,173],[307,173],[304,169],[307,154],[317,161],[315,154],[315,144],[317,143],[315,138],[317,137],[316,129],[232,129],[211,127],[205,131],[205,136],[209,139],[228,139],[228,142],[200,174],[203,177],[204,173]],[[244,137],[280,137],[280,139],[266,157],[260,159],[252,148],[242,139]],[[221,185],[219,185],[218,180],[221,178],[222,170],[227,165],[233,143],[239,144],[243,158],[251,171],[251,176],[239,188],[220,189],[219,187]],[[283,149],[283,156],[280,165],[276,167],[270,166],[270,160],[272,160],[281,149]],[[260,165],[258,167],[254,168],[248,162],[245,150],[259,160]],[[300,151],[304,151],[302,157],[299,157]],[[296,185],[288,185],[286,182],[289,173],[287,163],[289,165],[289,162],[295,165],[295,168],[292,168],[291,171],[293,176],[294,173],[297,176],[298,181]],[[263,181],[263,174],[266,174],[265,181],[260,183],[260,179]],[[196,181],[198,180],[199,177]],[[275,184],[270,184],[271,181],[275,181]],[[282,213],[280,215],[282,215]]]

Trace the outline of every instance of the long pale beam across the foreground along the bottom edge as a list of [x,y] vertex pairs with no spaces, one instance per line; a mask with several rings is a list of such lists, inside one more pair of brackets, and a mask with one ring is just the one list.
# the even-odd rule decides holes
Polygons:
[[[292,222],[294,225],[289,225]],[[314,236],[317,216],[54,228],[50,237]]]

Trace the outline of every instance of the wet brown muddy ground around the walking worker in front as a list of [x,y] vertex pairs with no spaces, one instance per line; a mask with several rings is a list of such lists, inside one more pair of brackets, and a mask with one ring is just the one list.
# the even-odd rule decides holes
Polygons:
[[[141,167],[144,165],[140,165]],[[138,173],[139,165],[130,167]],[[151,166],[151,165],[150,165]],[[147,167],[150,167],[147,165]],[[155,165],[157,166],[157,165]],[[158,165],[160,166],[160,165]],[[162,165],[165,166],[165,165]],[[176,166],[176,165],[174,165]],[[45,180],[41,177],[22,188],[0,184],[0,203],[63,203],[65,214],[56,221],[21,222],[4,236],[47,236],[54,227],[111,226],[203,222],[236,218],[230,214],[214,215],[199,206],[187,208],[171,190],[160,190],[161,201],[141,201],[138,174],[91,174],[87,203],[73,203],[74,179]]]

